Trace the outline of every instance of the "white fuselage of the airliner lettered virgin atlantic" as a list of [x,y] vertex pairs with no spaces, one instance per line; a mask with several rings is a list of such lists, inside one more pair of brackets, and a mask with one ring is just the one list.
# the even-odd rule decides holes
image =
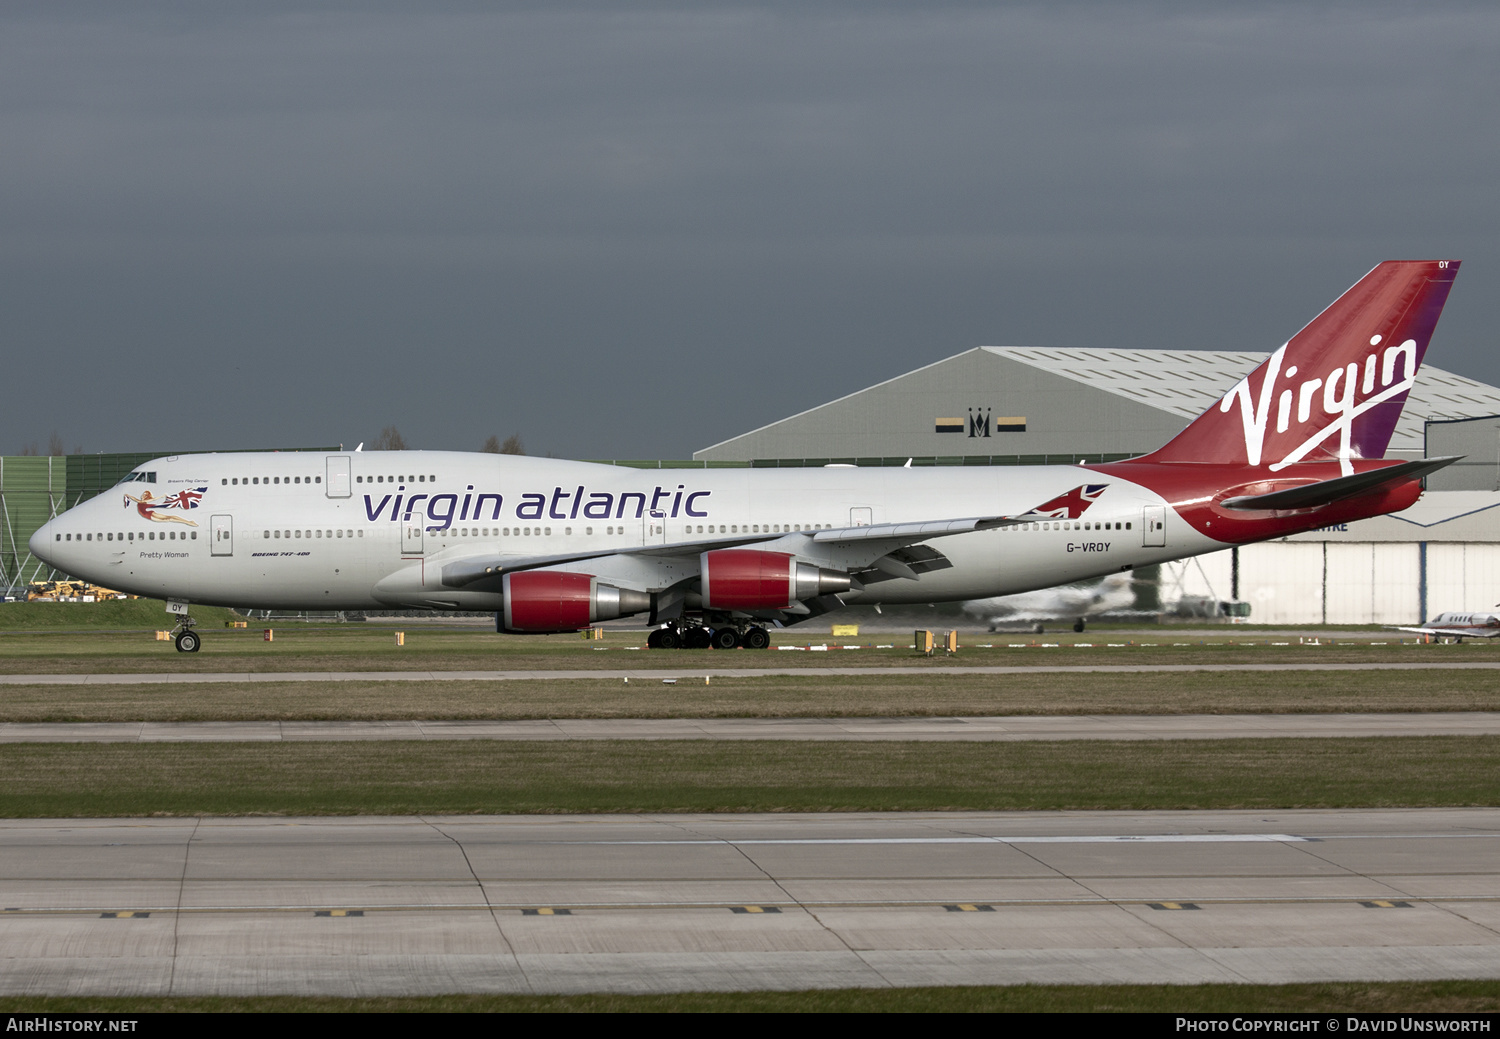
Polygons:
[[[696,576],[699,549],[726,541],[840,565],[836,547],[806,532],[1022,516],[1078,484],[1107,487],[1077,519],[934,538],[950,567],[840,598],[981,598],[1222,547],[1156,493],[1076,466],[632,469],[372,451],[172,456],[136,474],[46,523],[33,553],[106,588],[192,603],[490,610],[498,591],[446,586],[444,567],[566,556],[555,568],[658,591]],[[1148,535],[1146,510],[1166,528]]]

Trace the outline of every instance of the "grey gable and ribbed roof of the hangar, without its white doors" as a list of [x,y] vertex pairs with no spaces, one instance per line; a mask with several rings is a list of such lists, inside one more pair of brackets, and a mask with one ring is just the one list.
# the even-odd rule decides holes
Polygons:
[[[1066,465],[1144,454],[1268,354],[980,346],[694,451],[753,465]],[[1390,441],[1422,457],[1428,418],[1500,414],[1500,390],[1424,364]],[[1494,451],[1491,451],[1494,456]]]

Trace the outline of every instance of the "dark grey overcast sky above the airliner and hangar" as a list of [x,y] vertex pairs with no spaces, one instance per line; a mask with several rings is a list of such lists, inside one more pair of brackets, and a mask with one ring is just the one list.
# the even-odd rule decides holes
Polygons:
[[[1462,259],[1500,6],[0,7],[0,453],[688,457],[980,345],[1274,349]],[[962,403],[962,402],[960,402]]]

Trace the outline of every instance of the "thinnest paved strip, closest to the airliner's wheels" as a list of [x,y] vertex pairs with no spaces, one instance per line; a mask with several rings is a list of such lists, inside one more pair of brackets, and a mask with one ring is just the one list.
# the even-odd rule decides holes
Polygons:
[[513,682],[548,679],[693,679],[693,678],[876,678],[880,675],[1149,675],[1174,672],[1404,672],[1500,670],[1500,661],[1432,661],[1374,664],[1059,664],[956,666],[915,664],[868,667],[640,667],[630,670],[510,670],[510,672],[156,672],[142,675],[0,675],[0,685],[198,685],[213,682]]

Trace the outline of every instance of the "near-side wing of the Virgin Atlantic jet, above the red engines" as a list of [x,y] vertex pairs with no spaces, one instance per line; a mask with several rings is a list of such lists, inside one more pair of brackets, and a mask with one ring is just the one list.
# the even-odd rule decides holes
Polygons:
[[[952,534],[970,534],[974,531],[988,531],[999,526],[1011,526],[1029,522],[1012,516],[972,516],[966,519],[920,520],[912,523],[873,523],[866,526],[844,526],[824,531],[790,531],[784,534],[752,534],[702,538],[698,541],[676,541],[674,544],[636,544],[628,547],[609,547],[597,552],[573,552],[550,556],[471,556],[442,567],[442,583],[448,588],[465,588],[484,579],[496,579],[520,570],[540,570],[543,567],[558,567],[568,562],[584,562],[588,559],[603,559],[606,556],[692,556],[716,549],[742,549],[748,546],[771,547],[774,550],[802,555],[820,555],[820,550],[842,549],[840,555],[854,568],[866,568],[882,561],[885,556],[898,553],[908,546],[915,546],[932,538]],[[896,577],[916,577],[924,570],[951,565],[938,552],[915,552],[914,559],[896,558],[885,564],[882,570]],[[942,559],[936,567],[933,556]],[[894,573],[892,573],[894,571]]]

